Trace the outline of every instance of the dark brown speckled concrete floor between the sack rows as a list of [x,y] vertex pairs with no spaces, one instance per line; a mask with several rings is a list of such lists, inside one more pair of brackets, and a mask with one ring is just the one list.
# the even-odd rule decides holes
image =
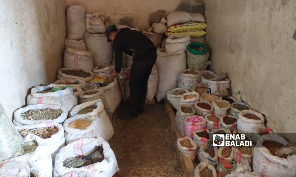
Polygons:
[[115,176],[184,176],[163,102],[146,106],[137,119],[122,120],[127,104],[113,114],[110,140],[120,171]]

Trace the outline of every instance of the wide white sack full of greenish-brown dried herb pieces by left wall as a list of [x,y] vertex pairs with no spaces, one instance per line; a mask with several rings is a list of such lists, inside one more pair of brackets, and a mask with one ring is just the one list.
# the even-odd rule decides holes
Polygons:
[[17,109],[14,112],[15,125],[36,124],[40,122],[63,123],[67,118],[67,110],[62,106],[50,104],[34,104]]

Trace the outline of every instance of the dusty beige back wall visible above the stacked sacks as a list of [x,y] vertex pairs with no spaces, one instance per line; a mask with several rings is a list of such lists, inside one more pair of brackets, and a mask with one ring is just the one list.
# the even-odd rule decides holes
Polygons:
[[83,5],[86,13],[103,12],[105,17],[110,16],[116,22],[122,17],[133,17],[133,24],[140,29],[149,27],[148,17],[158,9],[168,12],[186,8],[190,0],[67,0],[67,4]]

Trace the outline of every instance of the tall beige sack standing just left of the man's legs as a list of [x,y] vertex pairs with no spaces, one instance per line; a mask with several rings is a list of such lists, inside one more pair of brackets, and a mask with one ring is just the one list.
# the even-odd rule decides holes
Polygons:
[[104,106],[108,115],[114,113],[115,109],[119,106],[121,101],[121,94],[118,87],[117,78],[114,78],[114,82],[107,86],[101,87],[104,90]]

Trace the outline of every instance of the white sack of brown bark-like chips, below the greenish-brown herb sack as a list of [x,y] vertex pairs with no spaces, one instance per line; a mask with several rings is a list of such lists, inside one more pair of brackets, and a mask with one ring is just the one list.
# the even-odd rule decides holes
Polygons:
[[59,150],[65,146],[65,135],[62,124],[41,122],[37,124],[15,126],[26,141],[36,141],[38,145],[49,147],[54,162]]

